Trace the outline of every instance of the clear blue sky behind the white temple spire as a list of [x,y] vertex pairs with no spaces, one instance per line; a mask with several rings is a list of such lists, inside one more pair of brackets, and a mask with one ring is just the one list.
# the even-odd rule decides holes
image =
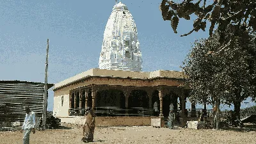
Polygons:
[[[193,29],[193,20],[184,19],[178,34],[173,33],[159,10],[161,0],[122,3],[138,28],[143,71],[180,70],[191,43],[209,36],[208,31],[200,31],[180,37]],[[115,0],[0,0],[0,79],[44,83],[47,38],[49,83],[99,67],[104,29],[114,5]],[[49,90],[48,109],[52,108]]]

